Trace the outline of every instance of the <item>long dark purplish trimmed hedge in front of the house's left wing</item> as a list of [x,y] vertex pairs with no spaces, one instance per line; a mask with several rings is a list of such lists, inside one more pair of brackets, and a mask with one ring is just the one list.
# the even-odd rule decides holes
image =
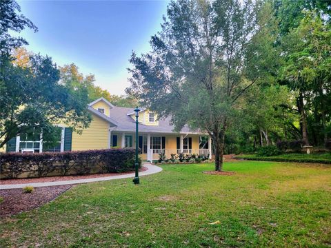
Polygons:
[[[43,152],[37,154],[0,154],[3,178],[85,175],[129,172],[134,169],[135,150],[98,149],[77,152]],[[139,159],[139,167],[141,160]]]

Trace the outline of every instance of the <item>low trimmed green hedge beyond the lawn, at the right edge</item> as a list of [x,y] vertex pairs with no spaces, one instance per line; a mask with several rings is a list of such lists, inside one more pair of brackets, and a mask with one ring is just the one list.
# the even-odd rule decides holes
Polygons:
[[250,160],[250,161],[274,161],[274,162],[297,162],[297,163],[322,163],[331,165],[331,160],[319,158],[281,158],[268,156],[236,156],[235,158]]

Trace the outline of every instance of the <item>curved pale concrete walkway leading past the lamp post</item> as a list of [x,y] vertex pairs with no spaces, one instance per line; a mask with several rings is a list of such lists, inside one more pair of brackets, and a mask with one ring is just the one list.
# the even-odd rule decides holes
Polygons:
[[[144,163],[143,166],[148,167],[148,170],[146,170],[145,172],[139,172],[139,177],[159,173],[162,170],[161,167],[156,165],[151,165],[150,163]],[[124,174],[119,176],[106,176],[100,178],[86,178],[86,179],[77,179],[77,180],[62,180],[62,181],[45,182],[45,183],[22,183],[15,185],[0,185],[0,189],[21,189],[26,186],[47,187],[47,186],[57,186],[57,185],[74,185],[79,183],[101,182],[104,180],[114,180],[114,179],[132,178],[132,177],[134,177],[134,173]]]

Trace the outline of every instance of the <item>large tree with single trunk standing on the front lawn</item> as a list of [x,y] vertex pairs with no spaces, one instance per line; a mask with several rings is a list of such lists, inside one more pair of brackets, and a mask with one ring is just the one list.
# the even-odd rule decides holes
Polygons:
[[[176,130],[185,124],[208,132],[215,150],[215,169],[223,169],[225,131],[246,90],[258,83],[269,43],[270,16],[257,16],[261,6],[251,1],[172,1],[161,32],[152,37],[152,51],[133,53],[131,86],[161,117],[171,116]],[[265,10],[266,11],[266,10]],[[272,17],[271,17],[272,18]],[[255,49],[259,52],[254,52]]]

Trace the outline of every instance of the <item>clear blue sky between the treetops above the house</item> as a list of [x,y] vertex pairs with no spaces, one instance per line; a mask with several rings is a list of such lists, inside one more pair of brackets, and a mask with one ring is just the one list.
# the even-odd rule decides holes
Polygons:
[[57,65],[74,63],[95,85],[125,94],[130,85],[132,50],[150,50],[150,37],[161,30],[168,1],[17,1],[21,13],[37,25],[19,34],[34,53]]

